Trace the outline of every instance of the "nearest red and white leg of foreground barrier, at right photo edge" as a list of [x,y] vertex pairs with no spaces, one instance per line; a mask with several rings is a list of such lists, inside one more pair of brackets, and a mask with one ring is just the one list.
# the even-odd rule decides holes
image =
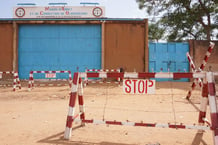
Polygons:
[[218,145],[218,110],[216,100],[216,87],[213,72],[207,73],[208,99],[210,106],[211,129],[213,130],[214,144]]

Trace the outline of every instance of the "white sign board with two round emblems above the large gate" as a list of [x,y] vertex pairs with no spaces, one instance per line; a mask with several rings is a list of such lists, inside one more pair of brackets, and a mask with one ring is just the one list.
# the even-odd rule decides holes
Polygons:
[[100,6],[14,7],[13,18],[100,18],[105,8]]

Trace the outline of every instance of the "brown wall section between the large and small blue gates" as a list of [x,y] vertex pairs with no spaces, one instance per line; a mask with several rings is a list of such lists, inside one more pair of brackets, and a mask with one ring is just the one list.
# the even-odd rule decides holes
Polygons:
[[105,68],[124,68],[125,71],[145,71],[145,23],[105,24]]

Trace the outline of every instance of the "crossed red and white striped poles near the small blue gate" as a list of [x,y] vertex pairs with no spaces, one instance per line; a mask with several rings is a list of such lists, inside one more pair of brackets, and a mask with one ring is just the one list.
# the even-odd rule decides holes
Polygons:
[[[211,52],[212,52],[214,46],[215,46],[215,44],[214,44],[213,42],[210,42],[209,48],[208,48],[208,50],[207,50],[207,52],[206,52],[206,54],[205,54],[205,57],[204,57],[204,59],[203,59],[203,62],[202,62],[202,64],[201,64],[199,70],[196,69],[196,67],[195,67],[195,65],[194,65],[194,62],[192,61],[191,56],[189,55],[189,53],[186,54],[186,55],[187,55],[187,58],[188,58],[188,61],[189,61],[189,64],[190,64],[190,67],[191,67],[191,69],[192,69],[192,72],[197,72],[197,71],[203,71],[203,70],[204,70],[205,65],[207,64],[207,61],[208,61],[208,59],[209,59],[209,57],[210,57],[210,55],[211,55]],[[194,80],[194,82],[192,83],[191,89],[188,91],[188,94],[187,94],[187,96],[186,96],[186,99],[189,99],[189,98],[191,97],[191,93],[192,93],[192,91],[195,89],[197,83],[199,84],[200,87],[202,86],[202,81],[201,81],[201,79],[197,78],[197,81]]]

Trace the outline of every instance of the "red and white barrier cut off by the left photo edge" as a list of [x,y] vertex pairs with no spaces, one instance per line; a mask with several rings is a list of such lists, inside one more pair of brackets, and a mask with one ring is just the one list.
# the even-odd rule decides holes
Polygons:
[[[3,74],[12,74],[13,75],[13,91],[16,91],[16,87],[18,86],[21,89],[21,83],[19,79],[18,72],[14,71],[0,71],[0,76],[2,78]],[[11,86],[10,84],[5,84],[2,86]]]

